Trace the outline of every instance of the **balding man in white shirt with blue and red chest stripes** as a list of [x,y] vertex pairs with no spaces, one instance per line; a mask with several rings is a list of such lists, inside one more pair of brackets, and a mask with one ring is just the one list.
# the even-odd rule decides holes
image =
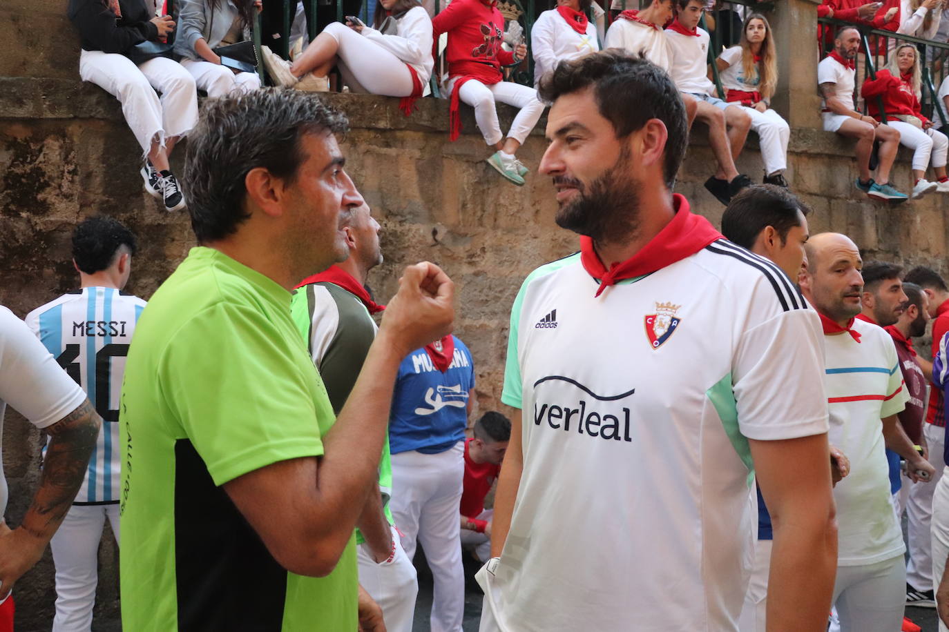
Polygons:
[[839,533],[834,604],[842,632],[893,632],[902,624],[905,549],[884,447],[906,460],[911,479],[931,476],[933,467],[897,421],[907,396],[893,340],[855,317],[864,289],[860,251],[837,233],[813,235],[805,249],[800,284],[824,326],[830,442],[850,460],[849,476],[833,490]]

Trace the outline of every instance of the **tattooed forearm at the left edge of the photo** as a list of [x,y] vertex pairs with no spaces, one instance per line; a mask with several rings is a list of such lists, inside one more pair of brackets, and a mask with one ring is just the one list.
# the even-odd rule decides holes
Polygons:
[[10,531],[0,521],[0,596],[36,564],[79,492],[102,419],[86,400],[44,430],[50,436],[43,477],[23,523]]

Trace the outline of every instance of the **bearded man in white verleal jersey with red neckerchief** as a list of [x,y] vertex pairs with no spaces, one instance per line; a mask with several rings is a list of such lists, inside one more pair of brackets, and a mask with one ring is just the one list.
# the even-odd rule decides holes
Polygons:
[[[672,194],[687,132],[664,72],[607,50],[540,92],[540,169],[581,252],[514,300],[501,399],[524,412],[481,629],[737,629],[755,472],[774,517],[769,616],[821,629],[836,533],[817,316]],[[629,94],[637,107],[617,106]]]

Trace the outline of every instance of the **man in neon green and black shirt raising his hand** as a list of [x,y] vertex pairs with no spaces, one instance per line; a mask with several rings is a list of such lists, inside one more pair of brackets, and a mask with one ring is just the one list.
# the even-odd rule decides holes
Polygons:
[[268,89],[209,101],[189,137],[201,245],[142,313],[122,392],[127,629],[356,629],[353,528],[392,385],[407,352],[451,329],[454,289],[431,263],[406,269],[334,424],[288,290],[347,253],[363,199],[345,126],[312,95]]

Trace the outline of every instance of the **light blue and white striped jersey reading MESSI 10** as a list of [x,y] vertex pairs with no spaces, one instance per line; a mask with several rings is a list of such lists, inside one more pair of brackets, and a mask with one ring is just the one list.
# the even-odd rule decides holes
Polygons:
[[119,501],[119,399],[125,356],[145,301],[110,287],[75,290],[27,315],[29,328],[102,417],[75,504]]

